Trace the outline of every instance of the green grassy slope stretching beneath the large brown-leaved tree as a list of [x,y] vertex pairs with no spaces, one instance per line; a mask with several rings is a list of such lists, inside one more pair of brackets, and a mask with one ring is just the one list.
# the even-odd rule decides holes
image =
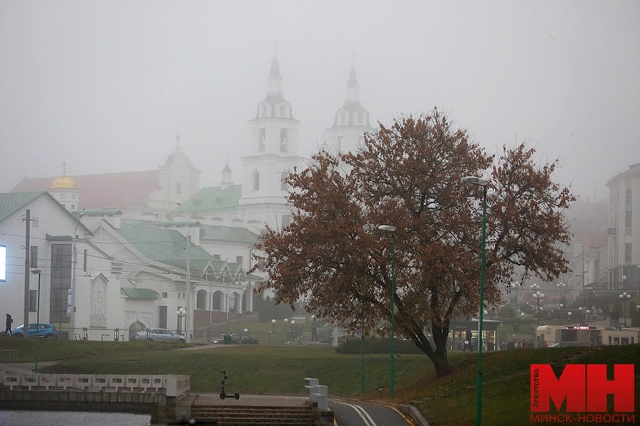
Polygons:
[[[172,351],[184,344],[144,342],[62,342],[0,339],[0,349],[18,349],[20,361],[33,361],[39,345],[41,361],[63,360],[44,373],[176,373],[191,375],[196,392],[219,392],[220,370],[229,376],[228,392],[305,394],[304,377],[317,377],[331,395],[388,400],[388,355],[365,356],[365,394],[361,356],[336,354],[309,346],[225,346],[201,351]],[[395,359],[395,400],[412,401],[433,426],[472,425],[476,413],[477,357],[449,354],[456,370],[435,378],[425,356]],[[640,345],[606,348],[558,348],[503,351],[484,356],[483,420],[486,425],[530,424],[529,365],[636,364]],[[636,406],[638,400],[636,398]]]

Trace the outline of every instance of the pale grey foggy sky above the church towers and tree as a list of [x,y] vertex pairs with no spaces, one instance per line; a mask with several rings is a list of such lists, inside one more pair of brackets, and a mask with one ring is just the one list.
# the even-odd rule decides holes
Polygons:
[[[352,64],[372,124],[439,107],[494,153],[529,141],[583,199],[640,163],[639,1],[0,2],[0,192],[153,170],[180,147],[242,181],[277,43],[302,155]],[[354,55],[355,53],[355,55]]]

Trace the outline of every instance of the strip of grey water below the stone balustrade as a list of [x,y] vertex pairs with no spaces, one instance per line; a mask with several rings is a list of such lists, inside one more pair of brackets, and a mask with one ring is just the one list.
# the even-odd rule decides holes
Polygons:
[[147,414],[0,410],[2,426],[149,426],[149,422]]

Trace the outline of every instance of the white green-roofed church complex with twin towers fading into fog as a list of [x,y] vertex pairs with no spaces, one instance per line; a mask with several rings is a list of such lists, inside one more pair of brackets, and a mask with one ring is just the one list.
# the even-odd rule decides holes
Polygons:
[[[253,247],[266,226],[287,226],[283,178],[306,160],[275,57],[248,124],[241,183],[226,166],[220,185],[200,187],[201,170],[176,146],[157,170],[69,176],[63,165],[0,194],[1,309],[14,324],[39,315],[68,339],[128,339],[142,327],[201,339],[251,312],[263,278],[248,272]],[[352,68],[323,148],[351,151],[371,131]]]

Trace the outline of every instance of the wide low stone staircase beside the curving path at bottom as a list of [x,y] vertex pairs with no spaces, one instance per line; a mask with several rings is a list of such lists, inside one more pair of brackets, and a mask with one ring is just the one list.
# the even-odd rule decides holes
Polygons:
[[192,405],[197,425],[217,426],[316,426],[311,405],[304,407]]

